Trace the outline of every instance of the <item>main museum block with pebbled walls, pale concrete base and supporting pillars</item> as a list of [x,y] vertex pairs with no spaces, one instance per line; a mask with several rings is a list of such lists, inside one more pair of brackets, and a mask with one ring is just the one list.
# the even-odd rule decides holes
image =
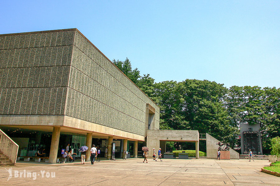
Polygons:
[[85,135],[88,146],[108,139],[110,158],[113,139],[137,148],[159,129],[159,107],[77,29],[2,34],[1,127],[52,132],[53,163],[61,133]]

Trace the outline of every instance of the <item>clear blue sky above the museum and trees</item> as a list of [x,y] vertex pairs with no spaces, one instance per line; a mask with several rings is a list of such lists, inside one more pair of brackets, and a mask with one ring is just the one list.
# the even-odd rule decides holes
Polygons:
[[0,34],[79,29],[156,82],[280,87],[280,1],[1,1]]

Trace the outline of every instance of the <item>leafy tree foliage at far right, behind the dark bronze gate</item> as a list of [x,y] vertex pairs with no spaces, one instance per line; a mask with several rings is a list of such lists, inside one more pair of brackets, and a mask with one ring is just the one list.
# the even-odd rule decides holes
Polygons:
[[263,148],[269,149],[270,139],[280,135],[280,89],[232,86],[225,100],[231,122],[259,124]]

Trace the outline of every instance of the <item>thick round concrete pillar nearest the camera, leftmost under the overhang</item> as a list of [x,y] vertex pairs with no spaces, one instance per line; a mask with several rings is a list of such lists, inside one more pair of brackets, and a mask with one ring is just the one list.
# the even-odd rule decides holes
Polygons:
[[60,127],[54,126],[52,134],[52,142],[49,151],[49,163],[56,163],[57,160],[57,151],[59,143]]

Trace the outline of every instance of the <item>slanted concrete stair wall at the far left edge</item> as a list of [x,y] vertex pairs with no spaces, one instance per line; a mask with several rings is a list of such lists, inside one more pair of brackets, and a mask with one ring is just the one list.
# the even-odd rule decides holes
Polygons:
[[0,150],[16,163],[18,145],[0,129]]

